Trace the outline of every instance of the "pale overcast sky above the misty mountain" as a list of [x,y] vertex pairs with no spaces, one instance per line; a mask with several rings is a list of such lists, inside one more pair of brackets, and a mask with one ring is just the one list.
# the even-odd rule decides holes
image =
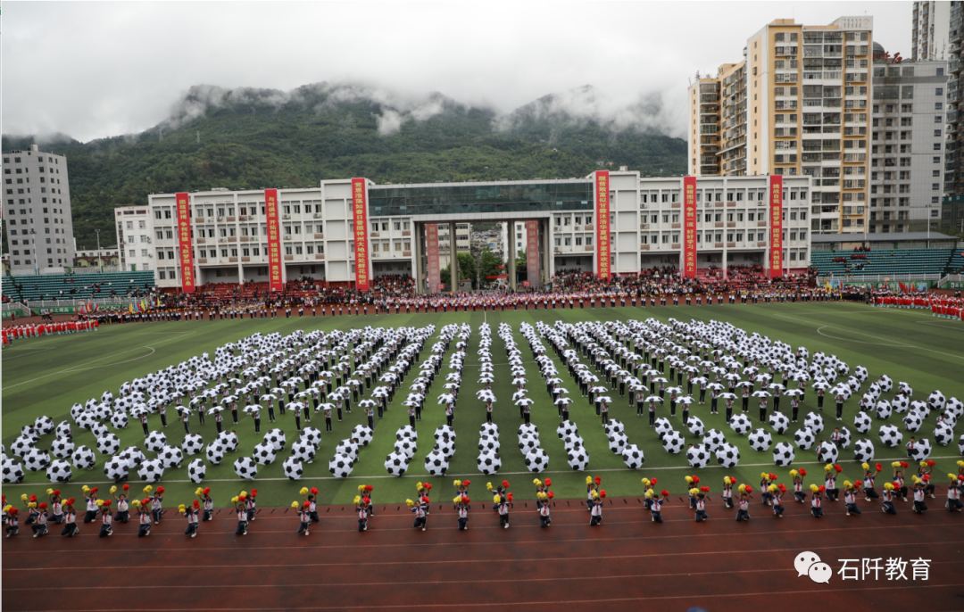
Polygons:
[[598,93],[586,112],[603,116],[659,93],[658,123],[679,136],[687,79],[740,60],[769,21],[872,15],[874,40],[910,57],[911,11],[911,2],[4,2],[3,132],[86,142],[156,125],[192,85],[329,81],[389,99],[441,92],[502,113],[583,85]]

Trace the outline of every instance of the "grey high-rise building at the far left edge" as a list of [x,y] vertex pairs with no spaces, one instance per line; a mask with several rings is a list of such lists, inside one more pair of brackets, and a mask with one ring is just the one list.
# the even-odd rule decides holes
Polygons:
[[67,158],[38,146],[3,154],[3,216],[11,274],[73,265],[73,220]]

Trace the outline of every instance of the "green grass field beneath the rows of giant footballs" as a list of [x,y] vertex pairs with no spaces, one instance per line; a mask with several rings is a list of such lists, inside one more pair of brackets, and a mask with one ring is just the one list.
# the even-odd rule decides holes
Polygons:
[[[485,496],[484,487],[487,481],[507,479],[512,483],[512,490],[517,499],[534,498],[533,488],[530,486],[535,477],[525,471],[522,453],[516,443],[516,430],[521,424],[517,407],[511,404],[512,386],[510,385],[509,367],[505,359],[505,346],[497,336],[497,325],[500,322],[509,323],[520,343],[523,358],[529,358],[525,345],[527,344],[519,332],[523,321],[533,323],[536,320],[553,322],[558,319],[566,321],[583,320],[612,320],[612,319],[645,319],[656,317],[667,320],[676,317],[682,320],[717,319],[726,320],[748,332],[758,332],[768,335],[772,339],[779,339],[789,343],[794,349],[800,345],[806,346],[811,354],[824,351],[837,355],[847,362],[851,370],[856,365],[864,365],[870,370],[870,381],[881,374],[890,375],[895,383],[905,381],[914,387],[914,399],[924,399],[934,389],[940,389],[949,399],[952,396],[964,398],[964,383],[962,383],[962,365],[964,365],[964,324],[947,319],[932,318],[924,310],[897,310],[870,308],[868,306],[840,303],[840,304],[797,304],[797,305],[755,305],[755,306],[680,306],[680,307],[651,307],[651,308],[604,308],[604,309],[576,309],[576,310],[539,310],[539,311],[507,311],[507,312],[474,312],[448,314],[417,314],[417,315],[388,315],[343,316],[318,318],[292,318],[275,320],[235,320],[213,322],[184,322],[184,323],[152,323],[127,326],[104,326],[96,333],[71,334],[65,336],[46,336],[29,340],[20,340],[12,348],[3,351],[3,443],[8,447],[19,435],[20,427],[45,414],[55,422],[69,418],[70,406],[75,402],[86,402],[91,397],[99,398],[104,390],[110,389],[115,395],[124,381],[143,376],[170,364],[176,364],[194,355],[208,352],[212,356],[216,347],[249,335],[261,333],[290,333],[294,330],[347,330],[365,325],[372,326],[424,326],[435,324],[438,329],[448,323],[468,322],[473,333],[469,340],[469,359],[463,376],[460,400],[456,409],[455,429],[457,434],[456,453],[449,467],[449,475],[444,478],[428,478],[424,470],[423,459],[431,450],[434,443],[433,432],[444,424],[445,416],[442,406],[438,406],[436,398],[442,393],[444,375],[448,372],[448,355],[445,356],[445,366],[440,378],[432,386],[426,401],[426,411],[423,420],[417,425],[419,433],[418,452],[415,454],[411,471],[402,478],[389,477],[385,467],[385,457],[391,451],[394,443],[394,433],[402,425],[408,424],[408,416],[404,407],[398,404],[404,400],[404,393],[396,394],[391,409],[385,418],[376,422],[374,440],[367,447],[362,448],[360,459],[355,466],[352,477],[335,479],[328,471],[328,460],[332,457],[335,445],[340,439],[346,438],[351,429],[364,422],[362,410],[355,409],[346,414],[343,422],[335,422],[335,432],[322,440],[315,462],[306,465],[306,474],[300,482],[291,482],[284,478],[281,471],[281,461],[287,456],[286,451],[279,454],[278,461],[271,466],[260,466],[254,481],[242,481],[233,471],[234,459],[242,454],[249,454],[255,443],[261,441],[261,436],[255,436],[254,423],[246,415],[241,416],[241,422],[236,431],[241,439],[237,453],[229,453],[221,466],[208,466],[207,477],[203,486],[209,486],[218,505],[225,505],[231,495],[241,490],[256,488],[259,492],[259,503],[262,506],[283,506],[299,498],[298,491],[303,487],[317,487],[320,491],[321,503],[343,504],[350,503],[357,487],[371,484],[375,487],[374,499],[378,503],[401,502],[412,497],[415,492],[415,482],[422,480],[432,482],[436,492],[434,500],[447,501],[453,492],[451,481],[456,477],[472,481],[470,493],[472,496]],[[478,326],[488,321],[493,328],[492,354],[495,362],[495,423],[500,429],[502,442],[502,469],[498,475],[486,477],[479,473],[475,466],[478,455],[478,429],[485,421],[485,408],[481,402],[475,400],[475,391],[481,388],[476,383],[478,379]],[[426,349],[431,347],[435,337],[426,342]],[[426,352],[422,353],[424,359]],[[550,356],[552,354],[550,353]],[[553,356],[554,357],[554,356]],[[567,386],[575,393],[576,403],[571,406],[571,418],[579,427],[580,435],[585,439],[585,445],[590,454],[589,468],[585,472],[574,472],[569,469],[565,461],[563,444],[555,435],[555,428],[559,422],[554,406],[549,404],[549,394],[542,385],[538,369],[532,361],[525,363],[528,370],[530,397],[536,400],[533,406],[532,421],[539,426],[543,448],[549,454],[549,470],[540,478],[550,476],[552,489],[560,498],[581,498],[585,494],[585,476],[587,474],[603,476],[603,489],[609,495],[636,495],[642,491],[640,478],[657,477],[659,486],[671,492],[683,492],[685,483],[683,476],[698,473],[703,484],[709,484],[713,492],[718,492],[722,486],[724,473],[736,475],[741,482],[749,482],[756,486],[759,483],[761,471],[777,471],[773,465],[771,451],[757,452],[752,450],[744,437],[736,434],[724,423],[723,415],[710,416],[709,402],[705,406],[694,405],[691,414],[699,416],[707,429],[716,428],[722,431],[727,439],[736,443],[740,449],[740,465],[734,469],[724,470],[720,466],[710,466],[701,470],[694,470],[686,465],[684,454],[669,455],[662,450],[654,431],[647,427],[645,416],[636,416],[634,409],[629,408],[626,398],[616,400],[610,409],[610,417],[621,419],[626,424],[629,442],[635,443],[643,449],[646,463],[639,470],[629,470],[618,455],[614,455],[607,448],[607,440],[595,410],[585,399],[578,397],[578,386],[569,378],[568,370],[561,363],[557,363],[560,376],[567,380]],[[403,390],[411,385],[414,375],[410,374]],[[866,388],[866,386],[865,386]],[[890,399],[892,393],[884,397]],[[854,439],[863,438],[853,428],[853,415],[857,412],[858,396],[852,397],[844,405],[844,422]],[[832,398],[826,402],[826,429],[817,440],[829,439],[833,431]],[[784,401],[781,407],[784,413],[789,412],[789,401]],[[736,403],[736,412],[739,404]],[[801,406],[800,423],[791,426],[790,436],[773,436],[774,443],[789,439],[792,441],[792,431],[802,426],[803,416],[810,411],[816,411],[816,394],[810,391],[807,402]],[[721,402],[722,412],[722,402]],[[668,416],[669,409],[660,409],[659,416]],[[749,415],[758,426],[755,405],[751,402]],[[267,414],[262,413],[262,433],[272,427],[279,427],[285,431],[288,445],[297,439],[294,418],[291,412],[279,416],[275,425],[267,423]],[[936,415],[931,414],[919,437],[932,439]],[[899,415],[891,417],[890,422],[899,423]],[[674,427],[684,434],[687,442],[696,442],[695,437],[689,436],[683,426],[680,412],[674,420]],[[183,427],[177,422],[174,411],[169,411],[169,427],[163,430],[170,444],[179,445],[183,439]],[[230,417],[226,417],[229,427]],[[903,449],[887,449],[877,438],[877,428],[883,423],[874,419],[871,431],[866,435],[877,449],[876,461],[883,463],[885,473],[891,471],[890,462],[904,456]],[[319,429],[324,429],[324,419],[315,418],[311,423]],[[160,417],[150,416],[151,429],[160,429]],[[192,432],[200,433],[205,442],[214,439],[216,430],[213,418],[209,418],[206,426],[200,426],[196,417],[192,422]],[[769,430],[768,427],[766,427]],[[901,430],[903,428],[901,427]],[[115,430],[111,428],[111,431]],[[115,432],[120,436],[121,448],[136,445],[143,449],[143,432],[140,424],[134,420],[126,430]],[[961,430],[957,430],[959,435]],[[908,434],[904,434],[906,437]],[[54,436],[44,436],[38,444],[49,447]],[[430,441],[431,440],[431,441]],[[77,445],[86,444],[96,448],[94,437],[90,432],[79,430],[74,426],[74,441]],[[840,463],[844,466],[844,478],[851,480],[860,476],[860,466],[853,461],[852,444],[841,453]],[[8,453],[10,454],[10,453]],[[145,451],[148,458],[153,453]],[[960,458],[956,442],[949,446],[937,446],[931,456],[937,461],[935,474],[939,476],[938,483],[944,483],[944,474],[956,472],[955,462]],[[74,471],[73,482],[59,486],[66,492],[66,496],[80,497],[80,488],[84,484],[100,487],[102,492],[110,488],[111,483],[103,474],[105,457],[97,455],[97,466],[91,471]],[[162,485],[167,490],[168,506],[189,501],[197,485],[187,478],[187,464],[193,458],[185,458],[179,469],[169,469],[164,475]],[[807,482],[822,483],[822,472],[816,462],[816,445],[814,449],[804,451],[797,449],[794,466],[814,468]],[[778,472],[781,481],[790,484],[787,469]],[[136,470],[131,472],[131,486],[135,491],[143,487],[137,479]],[[8,496],[19,497],[21,492],[42,493],[51,487],[42,471],[27,472],[24,483],[19,485],[4,485],[3,492]]]

